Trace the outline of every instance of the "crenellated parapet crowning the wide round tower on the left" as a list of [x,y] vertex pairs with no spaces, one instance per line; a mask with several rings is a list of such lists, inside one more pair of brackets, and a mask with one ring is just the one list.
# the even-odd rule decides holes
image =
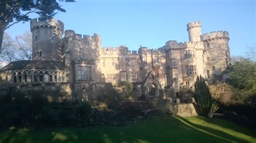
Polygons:
[[42,18],[34,18],[30,20],[30,30],[32,31],[33,28],[37,27],[55,27],[58,28],[60,31],[64,31],[64,23],[60,20],[56,20],[54,18],[50,19],[42,19]]

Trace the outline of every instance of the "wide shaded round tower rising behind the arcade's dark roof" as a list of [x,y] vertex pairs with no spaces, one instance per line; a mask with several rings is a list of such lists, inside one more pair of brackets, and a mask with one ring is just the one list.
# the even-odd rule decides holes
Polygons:
[[62,61],[64,24],[59,20],[35,18],[30,21],[33,60]]

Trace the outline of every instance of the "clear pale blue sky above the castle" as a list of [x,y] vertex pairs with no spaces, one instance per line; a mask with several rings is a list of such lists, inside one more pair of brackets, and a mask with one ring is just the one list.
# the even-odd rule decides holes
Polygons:
[[[159,48],[169,40],[188,41],[186,24],[200,21],[201,33],[227,31],[231,55],[244,55],[248,46],[255,47],[254,0],[217,1],[86,1],[60,2],[66,12],[59,12],[65,30],[102,38],[102,47],[126,45],[130,50],[139,46]],[[37,15],[31,15],[36,18]],[[29,22],[19,23],[8,30],[12,37],[30,30]]]

